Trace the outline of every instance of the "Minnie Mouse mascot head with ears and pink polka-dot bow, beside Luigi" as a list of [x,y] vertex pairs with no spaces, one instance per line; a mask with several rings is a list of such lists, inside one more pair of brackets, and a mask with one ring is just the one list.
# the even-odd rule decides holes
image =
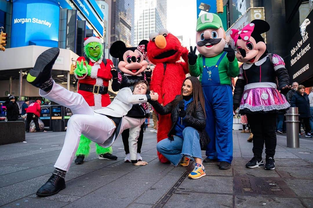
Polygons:
[[240,62],[253,64],[263,57],[267,51],[261,34],[267,31],[269,24],[264,20],[253,20],[241,30],[230,31],[238,51],[236,57]]

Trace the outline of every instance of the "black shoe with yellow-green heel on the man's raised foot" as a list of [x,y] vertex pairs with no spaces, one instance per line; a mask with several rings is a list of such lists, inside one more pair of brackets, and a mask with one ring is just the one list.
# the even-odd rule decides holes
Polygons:
[[29,71],[26,80],[44,91],[51,90],[53,85],[51,70],[59,53],[59,48],[50,48],[40,54],[34,68]]

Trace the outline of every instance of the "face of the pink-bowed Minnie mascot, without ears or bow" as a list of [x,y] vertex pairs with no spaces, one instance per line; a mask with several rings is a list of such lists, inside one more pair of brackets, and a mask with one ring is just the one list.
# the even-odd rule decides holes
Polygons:
[[253,64],[259,60],[266,50],[264,42],[256,43],[255,39],[250,36],[247,41],[239,39],[236,44],[238,53],[237,59],[240,62]]

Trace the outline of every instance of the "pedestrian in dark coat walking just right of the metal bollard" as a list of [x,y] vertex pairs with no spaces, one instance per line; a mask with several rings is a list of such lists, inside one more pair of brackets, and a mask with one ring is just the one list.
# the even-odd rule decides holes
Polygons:
[[[291,107],[298,107],[300,114],[299,120],[303,121],[305,137],[312,138],[311,127],[309,123],[310,119],[310,100],[308,94],[305,93],[305,87],[299,85],[297,92],[291,98]],[[301,132],[301,125],[299,123],[299,132]]]

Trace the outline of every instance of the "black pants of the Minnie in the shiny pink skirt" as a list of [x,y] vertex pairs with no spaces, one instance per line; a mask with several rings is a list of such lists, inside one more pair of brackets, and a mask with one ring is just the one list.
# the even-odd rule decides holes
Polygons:
[[262,157],[265,142],[266,158],[274,157],[276,149],[276,113],[247,114],[251,132],[253,133],[254,156]]

